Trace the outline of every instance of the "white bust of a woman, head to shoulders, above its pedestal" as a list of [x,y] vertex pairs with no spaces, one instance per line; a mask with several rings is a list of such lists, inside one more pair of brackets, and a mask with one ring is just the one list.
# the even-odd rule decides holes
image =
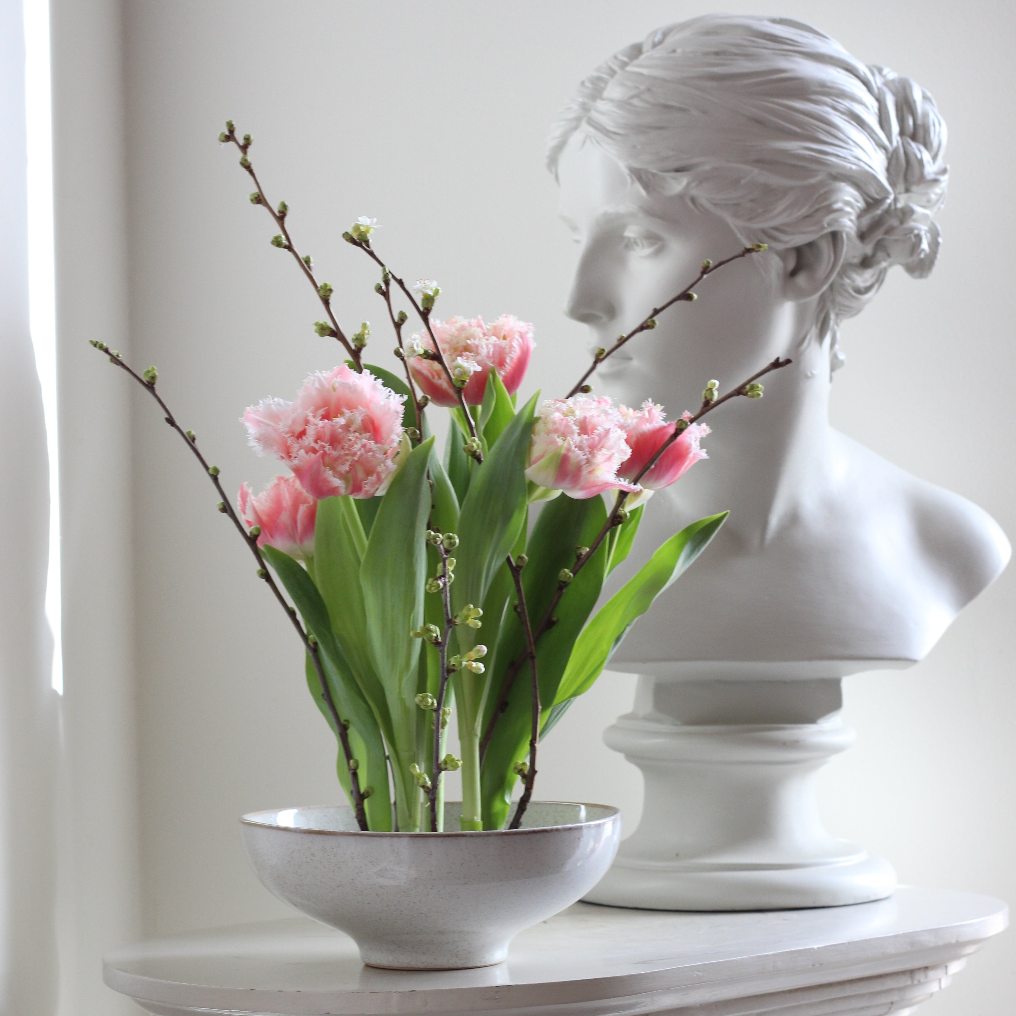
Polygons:
[[[615,669],[646,676],[622,726],[820,720],[839,707],[835,679],[922,659],[1005,567],[1009,545],[987,513],[828,421],[839,323],[893,265],[920,278],[935,263],[944,148],[945,124],[917,84],[785,18],[660,28],[583,81],[556,126],[550,165],[580,245],[567,312],[589,325],[591,346],[610,346],[704,258],[769,246],[662,314],[599,369],[597,388],[627,404],[648,395],[674,419],[711,378],[725,390],[774,357],[793,361],[765,379],[761,402],[737,400],[710,421],[712,463],[654,496],[619,569],[622,581],[692,519],[731,510],[615,655]],[[664,807],[646,778],[643,825]],[[670,864],[673,846],[642,860]],[[877,892],[869,872],[860,895],[815,899],[885,895],[888,871]]]

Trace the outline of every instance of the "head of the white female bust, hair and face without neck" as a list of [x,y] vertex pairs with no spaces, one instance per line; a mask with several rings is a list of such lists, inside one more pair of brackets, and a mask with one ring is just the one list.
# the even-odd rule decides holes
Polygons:
[[[886,271],[924,277],[935,263],[945,137],[919,85],[799,21],[708,15],[660,28],[586,78],[551,136],[563,216],[583,244],[569,313],[613,341],[703,257],[765,243],[772,253],[717,273],[668,330],[683,329],[686,353],[711,347],[713,361],[685,366],[728,370],[725,382],[808,346],[828,377],[842,363],[839,322]],[[750,340],[734,334],[746,329]],[[659,347],[634,355],[651,361],[632,378],[643,391],[675,366]]]

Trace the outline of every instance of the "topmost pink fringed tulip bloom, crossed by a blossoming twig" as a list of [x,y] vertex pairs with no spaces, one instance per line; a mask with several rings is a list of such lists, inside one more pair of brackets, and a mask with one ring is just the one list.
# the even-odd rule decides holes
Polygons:
[[[465,380],[462,397],[469,405],[484,400],[487,376],[496,371],[509,395],[518,391],[532,353],[532,325],[504,314],[493,324],[453,317],[432,323],[434,334],[453,377]],[[430,335],[414,335],[421,350],[434,350]],[[409,370],[420,387],[437,405],[458,405],[457,389],[436,360],[416,356]]]

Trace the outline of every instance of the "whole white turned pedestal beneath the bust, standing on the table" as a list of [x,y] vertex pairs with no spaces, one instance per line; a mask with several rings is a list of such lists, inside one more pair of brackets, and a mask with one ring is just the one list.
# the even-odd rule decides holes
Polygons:
[[839,705],[838,680],[641,678],[635,710],[604,737],[642,771],[642,821],[586,899],[768,910],[889,896],[892,867],[819,818],[818,770],[853,742]]

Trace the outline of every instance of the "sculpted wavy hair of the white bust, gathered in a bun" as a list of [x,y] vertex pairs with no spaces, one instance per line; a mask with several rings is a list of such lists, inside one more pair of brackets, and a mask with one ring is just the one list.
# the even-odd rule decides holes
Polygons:
[[646,191],[684,194],[743,243],[800,247],[840,233],[845,256],[814,337],[856,314],[894,264],[939,252],[946,126],[909,78],[860,63],[801,21],[711,14],[672,24],[596,68],[549,142],[556,173],[579,133]]

